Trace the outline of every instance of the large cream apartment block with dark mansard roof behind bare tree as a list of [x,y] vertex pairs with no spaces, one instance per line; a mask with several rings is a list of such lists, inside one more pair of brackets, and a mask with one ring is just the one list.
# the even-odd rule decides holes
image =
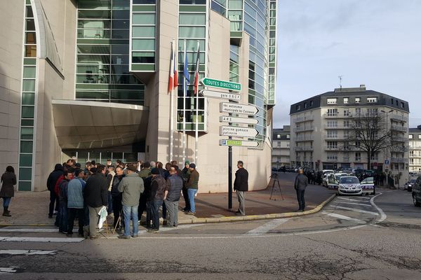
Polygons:
[[[291,165],[314,169],[380,169],[391,174],[408,173],[408,102],[360,87],[337,88],[290,106]],[[355,124],[363,116],[379,116],[392,134],[391,148],[370,156],[353,138]],[[403,173],[402,173],[403,172]]]

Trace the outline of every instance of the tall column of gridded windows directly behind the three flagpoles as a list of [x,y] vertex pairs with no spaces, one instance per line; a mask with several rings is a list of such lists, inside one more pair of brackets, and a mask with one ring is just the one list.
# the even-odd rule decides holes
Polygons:
[[[207,3],[204,0],[180,0],[179,3],[177,129],[183,129],[183,117],[185,117],[186,130],[195,130],[196,102],[199,102],[199,131],[206,131],[207,100],[205,97],[196,97],[194,95],[194,73],[196,71],[197,42],[199,41],[199,80],[205,76]],[[185,39],[189,71],[186,97],[184,97],[182,88]],[[199,90],[201,90],[201,86],[199,86]],[[183,106],[183,101],[185,101],[185,106]]]

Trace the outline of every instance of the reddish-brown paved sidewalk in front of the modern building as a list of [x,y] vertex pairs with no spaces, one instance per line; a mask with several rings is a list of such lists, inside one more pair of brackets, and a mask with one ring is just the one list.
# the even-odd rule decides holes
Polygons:
[[[234,211],[238,209],[238,200],[236,199],[235,193],[233,193],[232,197],[233,212],[228,211],[227,193],[198,194],[195,200],[196,215],[191,216],[179,211],[179,224],[277,218],[283,216],[283,214],[296,211],[298,209],[298,202],[288,174],[286,174],[286,178],[283,179],[280,176],[279,182],[281,183],[283,200],[281,199],[281,193],[279,192],[279,188],[277,186],[274,189],[272,200],[269,200],[272,190],[272,181],[269,183],[269,187],[266,190],[246,193],[246,216],[235,216],[234,214]],[[322,202],[328,200],[333,194],[334,193],[322,186],[309,185],[305,193],[307,205],[304,214],[314,213],[314,209],[316,209],[316,207],[318,207]],[[0,226],[54,225],[55,216],[52,219],[48,218],[49,197],[50,193],[48,191],[41,193],[15,192],[15,197],[12,198],[11,205],[9,207],[12,216],[0,216]],[[180,198],[179,206],[180,209],[185,207],[185,202],[182,197]],[[316,211],[318,211],[318,209],[316,209]],[[0,209],[0,211],[1,210],[2,209]],[[291,215],[292,214],[288,214],[286,216]],[[293,214],[293,216],[300,215],[302,215],[302,213]],[[144,220],[145,214],[142,217],[142,221]],[[109,225],[112,225],[112,221],[112,218],[109,217]]]

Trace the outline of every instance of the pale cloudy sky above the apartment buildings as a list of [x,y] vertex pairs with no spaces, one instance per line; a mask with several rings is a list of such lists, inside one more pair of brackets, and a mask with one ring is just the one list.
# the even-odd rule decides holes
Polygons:
[[290,105],[342,87],[409,102],[421,125],[421,0],[279,0],[274,128]]

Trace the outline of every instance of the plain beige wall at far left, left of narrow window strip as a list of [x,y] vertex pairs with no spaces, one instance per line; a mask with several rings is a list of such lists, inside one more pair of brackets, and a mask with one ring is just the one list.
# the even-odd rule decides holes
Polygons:
[[24,1],[1,1],[0,8],[0,173],[18,173]]

